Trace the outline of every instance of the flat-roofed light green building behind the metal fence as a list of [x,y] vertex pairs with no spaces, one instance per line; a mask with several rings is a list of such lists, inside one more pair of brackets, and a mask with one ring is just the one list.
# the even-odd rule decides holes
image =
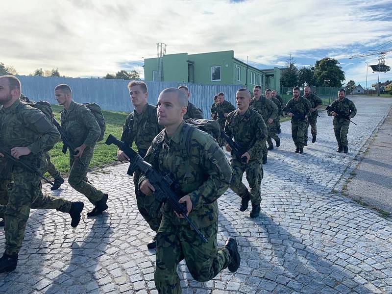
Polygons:
[[259,70],[234,57],[234,51],[200,54],[177,53],[144,60],[146,81],[196,84],[243,85],[252,91],[255,85],[280,89],[280,70]]

